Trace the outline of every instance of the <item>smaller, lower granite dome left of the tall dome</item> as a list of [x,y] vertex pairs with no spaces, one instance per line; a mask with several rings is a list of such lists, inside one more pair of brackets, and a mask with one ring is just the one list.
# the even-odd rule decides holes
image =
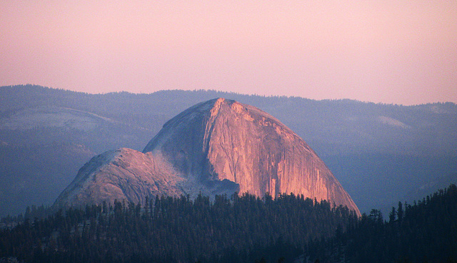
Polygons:
[[92,158],[81,167],[71,184],[57,197],[54,206],[99,205],[114,200],[143,203],[155,195],[181,195],[175,170],[149,153],[121,148]]

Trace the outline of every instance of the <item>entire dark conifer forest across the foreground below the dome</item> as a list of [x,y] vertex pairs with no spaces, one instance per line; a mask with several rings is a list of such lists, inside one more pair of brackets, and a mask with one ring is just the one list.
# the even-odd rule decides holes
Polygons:
[[[42,212],[42,211],[41,211]],[[457,187],[387,219],[303,196],[156,197],[59,210],[0,230],[19,262],[457,262]],[[2,221],[6,221],[3,219]]]

